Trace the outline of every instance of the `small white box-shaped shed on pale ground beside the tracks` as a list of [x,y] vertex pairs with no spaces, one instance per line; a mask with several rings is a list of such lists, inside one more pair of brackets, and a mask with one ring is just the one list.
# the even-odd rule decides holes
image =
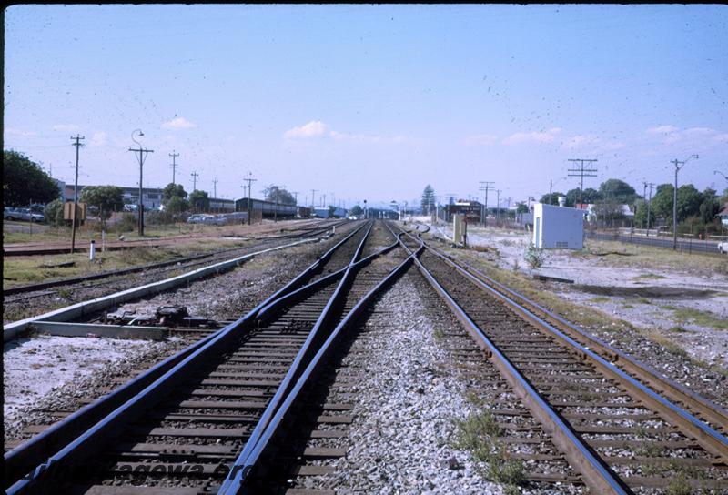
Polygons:
[[581,249],[584,247],[584,210],[533,206],[533,244],[542,249]]

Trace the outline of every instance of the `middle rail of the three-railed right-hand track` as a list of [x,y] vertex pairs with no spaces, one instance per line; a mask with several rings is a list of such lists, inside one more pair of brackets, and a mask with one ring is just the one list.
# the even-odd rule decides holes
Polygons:
[[[429,247],[428,247],[429,248]],[[542,318],[539,318],[536,314],[531,312],[529,309],[524,308],[514,299],[501,294],[501,292],[491,288],[488,284],[484,283],[480,278],[477,278],[470,274],[468,270],[461,268],[457,263],[450,260],[449,258],[440,255],[430,248],[435,256],[442,259],[444,262],[449,264],[452,268],[458,270],[458,272],[472,281],[477,287],[483,288],[490,292],[496,298],[500,298],[504,301],[516,314],[521,315],[522,318],[530,320],[537,328],[542,328],[547,331],[552,337],[557,338],[562,345],[567,348],[576,350],[577,353],[584,360],[588,360],[602,373],[611,378],[615,379],[629,391],[632,392],[635,399],[641,400],[648,408],[656,411],[662,419],[677,426],[682,430],[684,434],[695,439],[695,441],[705,450],[711,452],[718,458],[722,458],[723,462],[728,464],[728,438],[726,438],[719,431],[713,429],[710,425],[706,424],[703,420],[696,418],[686,409],[672,403],[672,401],[665,399],[658,392],[648,388],[642,382],[634,379],[624,370],[618,368],[614,363],[602,358],[599,354],[591,349],[588,349],[581,345],[574,338],[571,338],[558,328],[554,328],[550,323]],[[724,424],[724,423],[723,423]]]

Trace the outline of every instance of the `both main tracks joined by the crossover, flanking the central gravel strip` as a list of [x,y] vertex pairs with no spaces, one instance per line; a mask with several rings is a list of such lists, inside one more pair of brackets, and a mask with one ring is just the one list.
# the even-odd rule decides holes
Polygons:
[[362,222],[245,317],[5,454],[5,489],[331,492],[300,489],[346,454],[317,446],[356,420],[356,394],[329,392],[374,302],[409,269],[450,309],[440,318],[458,320],[443,345],[480,380],[497,440],[528,463],[526,483],[666,493],[679,478],[728,492],[724,409],[381,222]]

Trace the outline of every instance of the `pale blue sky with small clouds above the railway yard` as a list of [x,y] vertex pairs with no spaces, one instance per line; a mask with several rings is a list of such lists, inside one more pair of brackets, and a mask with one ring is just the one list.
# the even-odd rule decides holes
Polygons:
[[[524,200],[598,176],[722,189],[723,5],[15,5],[5,11],[5,149],[73,181],[171,181],[241,197],[243,177],[310,203]],[[489,195],[490,205],[495,195]]]

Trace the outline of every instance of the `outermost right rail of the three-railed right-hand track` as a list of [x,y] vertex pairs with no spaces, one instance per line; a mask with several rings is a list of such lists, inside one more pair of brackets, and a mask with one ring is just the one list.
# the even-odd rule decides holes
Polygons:
[[481,272],[478,268],[474,268],[460,260],[455,261],[450,255],[440,251],[438,248],[433,248],[431,246],[428,246],[428,248],[440,257],[447,258],[450,265],[460,266],[460,268],[470,272],[475,277],[480,278],[480,280],[486,284],[504,292],[508,297],[519,301],[521,305],[533,308],[535,312],[541,313],[541,318],[550,321],[555,325],[563,326],[564,328],[561,329],[564,330],[571,338],[583,340],[582,343],[585,342],[590,349],[595,349],[599,354],[616,363],[618,367],[622,367],[634,375],[637,379],[649,384],[652,389],[662,390],[669,398],[682,402],[690,409],[693,409],[695,412],[703,416],[703,418],[710,421],[713,425],[723,425],[724,429],[728,429],[728,410],[723,409],[720,405],[693,392],[693,390],[686,389],[680,383],[665,377],[662,373],[660,373],[660,371],[653,369],[648,364],[643,363],[639,359],[632,358],[632,356],[626,352],[613,347],[607,342],[604,342],[601,338],[591,335],[583,328],[574,325],[569,320],[562,318],[531,299],[526,298],[511,288],[504,286],[497,280],[490,278]]

